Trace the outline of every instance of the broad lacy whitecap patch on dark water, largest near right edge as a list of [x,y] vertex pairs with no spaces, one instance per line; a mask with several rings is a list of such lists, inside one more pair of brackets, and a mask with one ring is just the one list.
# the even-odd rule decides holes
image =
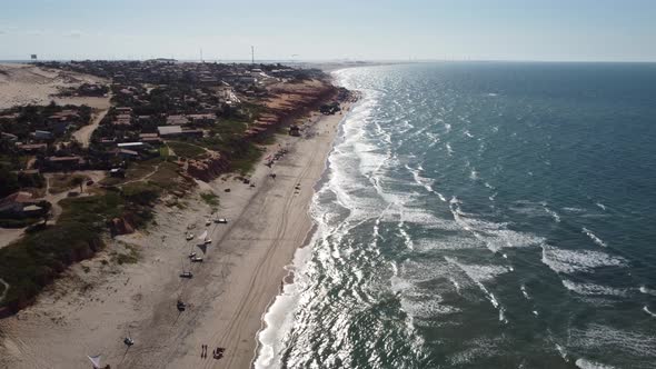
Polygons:
[[599,267],[626,267],[626,259],[593,250],[566,250],[543,245],[541,261],[557,273],[590,272]]

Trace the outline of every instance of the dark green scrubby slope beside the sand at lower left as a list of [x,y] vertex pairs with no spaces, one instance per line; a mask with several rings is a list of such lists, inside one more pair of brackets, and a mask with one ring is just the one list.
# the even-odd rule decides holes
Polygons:
[[[0,306],[20,309],[73,262],[88,259],[103,247],[101,235],[108,221],[130,219],[133,226],[152,219],[149,199],[156,198],[151,187],[130,187],[128,191],[109,191],[60,201],[62,213],[54,226],[27,233],[22,239],[0,249],[0,278],[11,288]],[[121,257],[132,260],[133,252]]]

